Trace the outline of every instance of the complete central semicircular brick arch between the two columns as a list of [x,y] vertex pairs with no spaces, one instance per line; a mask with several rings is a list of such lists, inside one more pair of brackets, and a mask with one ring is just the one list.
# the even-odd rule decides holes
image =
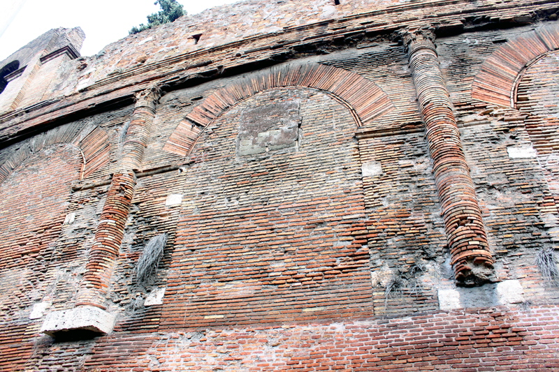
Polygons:
[[358,126],[391,112],[394,105],[377,84],[361,75],[321,64],[287,65],[254,73],[210,94],[175,128],[164,150],[185,156],[198,135],[236,103],[261,91],[304,87],[322,91],[345,105]]

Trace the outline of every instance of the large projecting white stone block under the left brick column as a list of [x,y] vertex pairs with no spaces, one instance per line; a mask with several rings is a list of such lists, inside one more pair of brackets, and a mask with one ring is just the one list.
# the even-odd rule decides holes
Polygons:
[[114,325],[115,315],[95,306],[78,306],[49,313],[41,332],[53,337],[59,332],[79,330],[108,334]]

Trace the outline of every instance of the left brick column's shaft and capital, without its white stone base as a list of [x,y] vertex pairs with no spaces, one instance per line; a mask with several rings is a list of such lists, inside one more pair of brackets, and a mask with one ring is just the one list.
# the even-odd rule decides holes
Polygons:
[[155,105],[160,95],[157,87],[136,95],[136,108],[126,131],[117,170],[112,176],[107,192],[101,221],[97,225],[94,244],[80,283],[76,306],[105,308],[110,277],[119,255],[124,225],[134,195],[136,171],[140,169],[143,161],[155,117]]

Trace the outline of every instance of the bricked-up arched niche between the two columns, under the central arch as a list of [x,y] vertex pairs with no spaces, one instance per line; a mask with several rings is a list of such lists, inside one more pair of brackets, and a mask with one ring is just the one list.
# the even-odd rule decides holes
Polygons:
[[372,314],[356,128],[308,87],[252,94],[208,124],[184,171],[161,329]]

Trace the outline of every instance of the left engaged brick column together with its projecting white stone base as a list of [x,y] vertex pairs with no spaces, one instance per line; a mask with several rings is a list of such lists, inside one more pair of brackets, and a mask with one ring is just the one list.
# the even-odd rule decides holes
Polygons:
[[88,336],[90,333],[108,333],[112,330],[115,316],[105,311],[108,286],[124,237],[124,225],[136,186],[136,171],[143,161],[155,117],[155,105],[160,96],[157,87],[136,95],[136,108],[97,225],[94,244],[78,289],[76,306],[50,313],[41,328],[45,334],[58,336],[66,332],[79,332],[82,336]]

